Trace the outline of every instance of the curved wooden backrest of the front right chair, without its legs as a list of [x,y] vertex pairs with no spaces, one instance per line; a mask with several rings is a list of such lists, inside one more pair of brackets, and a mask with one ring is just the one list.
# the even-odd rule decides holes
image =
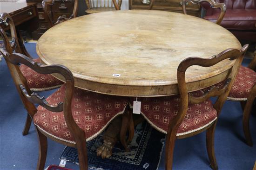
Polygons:
[[[209,99],[210,97],[218,97],[214,104],[214,108],[217,111],[217,115],[220,114],[224,101],[228,97],[229,91],[231,89],[231,85],[235,80],[236,74],[242,63],[243,56],[247,49],[248,49],[248,44],[244,45],[241,50],[232,49],[232,48],[227,49],[222,51],[217,56],[213,56],[208,59],[199,58],[199,57],[189,57],[183,60],[179,64],[177,69],[177,81],[178,81],[178,88],[179,88],[180,98],[181,98],[180,110],[178,111],[178,114],[175,117],[175,119],[169,122],[168,132],[177,131],[180,124],[182,123],[182,120],[184,119],[185,114],[187,113],[189,103],[199,104]],[[201,67],[211,67],[225,59],[229,59],[229,60],[236,59],[236,62],[233,65],[233,67],[229,69],[226,77],[226,83],[224,84],[223,87],[220,87],[220,88],[212,87],[209,89],[208,92],[205,92],[202,96],[199,96],[199,97],[192,96],[191,94],[188,93],[185,73],[190,66],[197,65]]]

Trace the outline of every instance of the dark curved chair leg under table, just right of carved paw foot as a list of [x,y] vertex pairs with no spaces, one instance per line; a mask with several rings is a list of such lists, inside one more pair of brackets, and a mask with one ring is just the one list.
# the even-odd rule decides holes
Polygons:
[[121,130],[120,130],[120,142],[123,145],[125,151],[130,151],[128,148],[127,142],[126,142],[126,132],[128,130],[128,126],[130,124],[131,120],[131,112],[129,109],[126,110],[125,113],[122,114],[122,125],[121,125]]

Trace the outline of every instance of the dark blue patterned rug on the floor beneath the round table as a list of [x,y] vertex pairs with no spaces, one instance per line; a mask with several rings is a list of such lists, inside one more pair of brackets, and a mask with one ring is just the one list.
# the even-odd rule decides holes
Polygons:
[[[165,135],[157,132],[148,123],[139,124],[135,137],[129,144],[130,152],[125,152],[117,143],[108,159],[97,157],[96,149],[103,143],[103,134],[87,143],[89,169],[91,170],[157,170],[162,155]],[[78,163],[77,150],[66,147],[61,158]]]

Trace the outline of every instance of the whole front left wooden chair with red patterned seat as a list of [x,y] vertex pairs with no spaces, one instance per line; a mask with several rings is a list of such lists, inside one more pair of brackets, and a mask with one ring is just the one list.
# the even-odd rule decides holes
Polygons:
[[[34,120],[39,139],[37,170],[44,170],[47,138],[77,148],[80,170],[87,170],[86,142],[97,137],[116,116],[130,116],[130,113],[126,112],[128,98],[74,88],[73,74],[66,67],[47,66],[36,63],[20,53],[9,54],[6,50],[0,51],[10,68],[21,100]],[[47,99],[40,97],[30,91],[25,77],[20,72],[18,66],[20,63],[40,74],[60,74],[65,78],[66,83]],[[40,106],[36,108],[34,103]],[[127,128],[128,123],[121,128]]]

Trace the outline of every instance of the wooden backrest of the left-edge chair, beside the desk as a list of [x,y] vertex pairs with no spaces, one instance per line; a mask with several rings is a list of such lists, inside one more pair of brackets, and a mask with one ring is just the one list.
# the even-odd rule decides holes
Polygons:
[[24,47],[20,32],[16,31],[12,17],[8,13],[0,13],[0,18],[3,19],[2,22],[0,23],[0,27],[4,25],[9,26],[11,31],[11,43],[6,33],[4,31],[1,32],[1,36],[3,38],[4,45],[8,53],[13,53],[13,51],[15,51],[30,57],[26,48]]

